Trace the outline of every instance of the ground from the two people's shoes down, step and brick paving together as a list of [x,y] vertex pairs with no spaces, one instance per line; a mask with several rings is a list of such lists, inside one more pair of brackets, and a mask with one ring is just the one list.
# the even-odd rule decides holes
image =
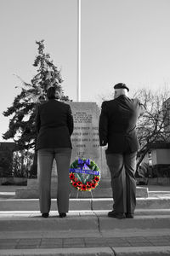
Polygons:
[[0,255],[170,255],[170,211],[138,211],[133,219],[106,213],[2,212]]

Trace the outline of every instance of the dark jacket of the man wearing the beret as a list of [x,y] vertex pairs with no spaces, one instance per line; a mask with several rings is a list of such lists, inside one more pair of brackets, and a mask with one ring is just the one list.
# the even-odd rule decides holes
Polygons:
[[103,102],[99,117],[99,144],[108,143],[106,154],[132,153],[138,150],[136,123],[144,113],[144,105],[138,99],[119,96]]

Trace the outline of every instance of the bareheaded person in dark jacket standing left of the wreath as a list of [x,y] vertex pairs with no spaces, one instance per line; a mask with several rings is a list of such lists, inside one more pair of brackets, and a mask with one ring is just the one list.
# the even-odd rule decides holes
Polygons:
[[69,210],[69,168],[71,161],[71,134],[73,118],[71,107],[59,102],[54,87],[47,91],[48,102],[37,106],[37,164],[39,175],[39,202],[42,217],[48,218],[51,206],[51,172],[54,159],[58,172],[57,205],[59,217]]

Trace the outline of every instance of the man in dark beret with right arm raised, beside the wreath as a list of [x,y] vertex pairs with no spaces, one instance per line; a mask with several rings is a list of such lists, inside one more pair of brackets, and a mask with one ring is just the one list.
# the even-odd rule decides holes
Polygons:
[[136,206],[136,154],[139,142],[136,134],[137,119],[144,113],[138,99],[127,96],[126,84],[114,86],[114,100],[103,102],[99,117],[99,143],[105,150],[111,172],[113,192],[112,218],[133,218]]

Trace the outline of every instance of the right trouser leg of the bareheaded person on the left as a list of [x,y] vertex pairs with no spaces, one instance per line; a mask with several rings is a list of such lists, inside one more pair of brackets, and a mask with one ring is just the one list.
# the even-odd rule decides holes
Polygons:
[[58,172],[57,206],[59,213],[69,211],[71,148],[56,148]]

